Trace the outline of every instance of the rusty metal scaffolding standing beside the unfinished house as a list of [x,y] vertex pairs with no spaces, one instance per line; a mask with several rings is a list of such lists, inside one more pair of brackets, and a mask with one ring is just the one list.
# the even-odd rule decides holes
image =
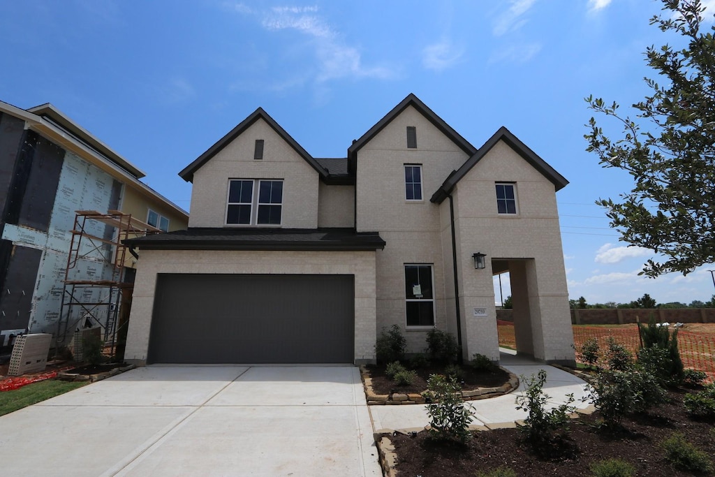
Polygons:
[[[134,290],[127,280],[123,240],[159,232],[131,214],[77,210],[64,275],[56,348],[69,345],[75,331],[99,326],[105,352],[114,357],[117,337],[128,323]],[[133,255],[133,254],[132,254]],[[126,307],[122,314],[122,308]],[[124,319],[120,319],[120,317]]]

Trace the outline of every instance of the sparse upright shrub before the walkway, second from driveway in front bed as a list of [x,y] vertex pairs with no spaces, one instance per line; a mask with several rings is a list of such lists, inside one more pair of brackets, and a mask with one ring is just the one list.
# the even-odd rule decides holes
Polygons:
[[522,376],[522,379],[526,383],[526,391],[516,398],[516,408],[526,410],[528,417],[520,429],[533,446],[543,448],[551,444],[557,436],[565,436],[568,432],[568,415],[576,410],[571,405],[573,394],[567,395],[565,404],[546,410],[546,402],[549,399],[543,392],[546,371],[541,369],[536,375],[531,375],[531,378]]

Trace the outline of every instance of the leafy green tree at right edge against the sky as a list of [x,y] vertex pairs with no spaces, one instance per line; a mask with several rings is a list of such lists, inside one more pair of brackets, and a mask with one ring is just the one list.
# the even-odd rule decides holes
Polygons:
[[714,262],[715,250],[715,36],[701,33],[700,0],[661,0],[664,14],[651,24],[674,32],[679,46],[646,49],[649,67],[663,84],[646,78],[652,90],[633,104],[636,119],[621,115],[618,104],[586,98],[589,107],[616,119],[621,137],[611,140],[593,117],[588,126],[589,152],[603,167],[624,169],[633,176],[631,192],[620,202],[601,199],[611,227],[621,240],[654,250],[641,274],[684,275]]

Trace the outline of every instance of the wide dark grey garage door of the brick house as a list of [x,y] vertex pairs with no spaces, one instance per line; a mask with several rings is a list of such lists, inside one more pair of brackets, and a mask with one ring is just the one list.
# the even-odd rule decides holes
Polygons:
[[157,276],[148,363],[352,363],[352,275]]

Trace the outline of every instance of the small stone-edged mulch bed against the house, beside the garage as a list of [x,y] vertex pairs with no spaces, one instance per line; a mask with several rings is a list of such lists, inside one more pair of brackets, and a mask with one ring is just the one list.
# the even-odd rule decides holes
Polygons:
[[[393,380],[385,375],[384,365],[368,365],[370,378],[373,379],[373,390],[377,394],[395,393],[422,393],[427,390],[427,380],[432,374],[444,374],[443,366],[430,365],[426,368],[415,370],[418,378],[408,386],[398,386]],[[496,388],[508,382],[509,373],[501,368],[493,371],[478,371],[469,365],[463,365],[463,390],[474,390],[477,388]]]

